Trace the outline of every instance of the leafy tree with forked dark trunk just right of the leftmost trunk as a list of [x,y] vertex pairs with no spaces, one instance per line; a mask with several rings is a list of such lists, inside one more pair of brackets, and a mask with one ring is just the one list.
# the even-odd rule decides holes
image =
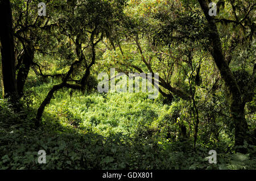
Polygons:
[[[16,56],[16,82],[19,98],[23,96],[24,85],[31,66],[39,68],[40,75],[44,75],[40,65],[34,60],[35,53],[48,54],[52,44],[55,43],[55,32],[51,31],[56,27],[54,21],[53,1],[47,1],[47,16],[38,15],[38,3],[40,1],[14,1],[14,37],[15,37],[15,56]],[[54,2],[56,6],[63,1]],[[52,22],[52,23],[51,23]],[[48,36],[46,36],[46,33]],[[42,41],[44,40],[44,41]],[[47,43],[46,46],[44,43]],[[35,69],[35,68],[34,68]],[[35,69],[36,70],[36,69]],[[59,76],[59,75],[56,75]],[[54,76],[52,76],[54,77]]]

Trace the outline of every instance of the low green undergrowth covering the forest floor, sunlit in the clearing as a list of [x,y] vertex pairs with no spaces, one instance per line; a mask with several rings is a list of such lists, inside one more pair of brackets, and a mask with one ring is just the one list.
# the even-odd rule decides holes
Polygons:
[[[56,99],[61,97],[56,96]],[[76,104],[78,106],[81,102],[76,103],[78,98],[72,95],[73,110],[71,107],[69,109],[71,105],[68,102],[53,99],[51,111],[47,111],[51,116],[44,116],[44,125],[37,130],[31,124],[31,116],[22,118],[24,113],[32,115],[32,112],[14,114],[7,102],[1,100],[1,169],[255,169],[253,148],[250,154],[243,155],[223,154],[226,145],[213,146],[220,154],[217,165],[210,165],[205,159],[210,148],[198,145],[195,152],[191,140],[180,142],[164,138],[163,134],[167,133],[164,127],[173,125],[173,132],[176,127],[173,118],[167,115],[177,116],[182,103],[172,104],[168,109],[140,94],[134,99],[127,99],[133,97],[126,94],[108,95],[105,103],[108,106],[104,106],[101,95],[83,96],[80,98],[84,108],[76,108]],[[130,102],[127,107],[121,104],[125,99]],[[117,100],[120,103],[118,107],[113,104]],[[53,111],[55,104],[59,108],[62,104],[57,112]],[[110,105],[113,107],[110,108]],[[148,105],[159,107],[158,114],[162,115],[159,119],[168,119],[169,122],[158,120],[158,114]],[[109,107],[108,112],[104,111],[106,107]],[[89,111],[88,121],[81,119],[79,108]],[[93,114],[94,111],[97,113]],[[54,116],[56,113],[58,116]],[[125,121],[124,115],[130,120]],[[115,116],[117,119],[113,120]],[[152,122],[151,117],[155,117],[155,121]],[[159,127],[155,127],[158,124]],[[160,133],[158,129],[161,129]],[[46,151],[46,164],[38,164],[38,151],[41,149]]]

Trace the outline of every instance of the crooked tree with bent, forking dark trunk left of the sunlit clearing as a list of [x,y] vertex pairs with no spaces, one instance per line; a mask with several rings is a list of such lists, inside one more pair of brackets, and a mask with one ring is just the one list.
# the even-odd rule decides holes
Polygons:
[[[73,61],[61,83],[54,85],[40,104],[36,114],[36,125],[40,125],[44,108],[49,104],[53,93],[65,88],[84,90],[90,76],[90,69],[96,62],[96,46],[103,37],[109,35],[112,26],[119,21],[124,3],[122,1],[88,0],[73,2],[65,7],[64,17],[59,19],[59,33],[70,41],[68,45],[75,49]],[[77,74],[76,70],[82,70]],[[74,76],[72,76],[74,75]],[[75,75],[79,79],[75,79]],[[78,76],[79,75],[79,76]]]

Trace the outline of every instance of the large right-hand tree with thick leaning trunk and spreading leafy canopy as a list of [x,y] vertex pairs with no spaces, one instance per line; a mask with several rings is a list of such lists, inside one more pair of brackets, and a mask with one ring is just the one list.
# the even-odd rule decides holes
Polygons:
[[[250,75],[250,81],[247,82],[246,88],[239,85],[238,79],[235,78],[233,70],[229,65],[230,62],[232,62],[233,53],[237,51],[236,47],[239,47],[239,44],[243,47],[247,47],[247,45],[250,47],[250,44],[254,39],[255,23],[253,23],[254,19],[253,16],[250,16],[250,13],[253,12],[255,4],[253,4],[253,2],[248,2],[247,5],[237,5],[237,8],[234,8],[232,3],[233,1],[230,1],[230,3],[232,3],[233,14],[236,20],[228,20],[225,18],[217,19],[210,16],[208,14],[209,7],[206,1],[199,1],[200,9],[203,10],[206,19],[204,19],[203,15],[201,15],[200,9],[195,3],[196,1],[183,2],[185,2],[183,6],[181,6],[180,2],[172,2],[170,3],[169,9],[165,9],[165,6],[159,8],[162,10],[162,12],[155,11],[155,13],[150,11],[150,7],[148,7],[150,5],[146,3],[146,5],[143,7],[145,10],[143,11],[142,17],[133,15],[136,18],[131,18],[133,19],[130,20],[132,23],[129,22],[127,24],[129,24],[128,29],[130,29],[130,39],[135,41],[134,44],[137,45],[138,53],[141,54],[142,64],[134,65],[135,61],[131,62],[127,60],[127,58],[123,58],[124,61],[119,61],[118,64],[125,65],[126,69],[131,68],[139,71],[140,73],[143,71],[160,71],[162,74],[159,75],[159,86],[161,86],[163,90],[160,88],[159,91],[164,96],[169,95],[172,98],[172,95],[176,95],[185,100],[192,100],[195,115],[197,115],[195,125],[196,140],[200,112],[197,109],[195,104],[196,100],[194,98],[195,86],[200,86],[200,64],[198,64],[199,66],[197,67],[193,67],[193,64],[190,62],[191,58],[193,58],[196,53],[204,52],[205,54],[208,54],[208,52],[210,52],[213,61],[217,65],[220,75],[225,82],[225,87],[228,88],[229,95],[226,97],[226,99],[229,100],[230,121],[234,125],[235,130],[235,145],[243,145],[244,141],[251,143],[247,133],[249,128],[245,119],[245,105],[247,102],[252,100],[254,95],[253,92],[255,87],[256,71],[255,63],[253,62],[253,70],[251,71],[252,73]],[[220,3],[218,3],[217,8],[218,11],[220,11]],[[239,16],[236,9],[237,11],[239,10]],[[244,10],[246,11],[244,12]],[[230,12],[229,10],[226,11]],[[248,33],[245,38],[242,38],[240,35],[241,33],[230,30],[228,36],[229,39],[225,40],[224,38],[220,37],[220,33],[222,32],[218,30],[220,26],[217,26],[217,22],[223,22],[223,28],[226,28],[225,24],[235,24],[238,27],[242,27],[243,31]],[[122,38],[122,40],[125,40],[125,38]],[[140,43],[140,41],[143,43]],[[225,44],[224,47],[225,52],[223,50],[224,48],[222,48],[222,41],[228,41],[228,44]],[[121,53],[125,54],[123,53],[125,52],[124,48],[121,48],[120,46],[121,41],[117,41],[116,44],[121,50]],[[167,51],[161,51],[161,48],[163,49],[163,47],[160,46],[161,44],[168,46],[170,53],[166,53]],[[182,48],[183,46],[185,47],[184,49]],[[149,49],[156,54],[148,52]],[[166,58],[166,56],[171,58]],[[183,60],[184,56],[187,56],[188,59]],[[253,53],[250,55],[250,58],[251,56],[253,56]],[[154,57],[158,57],[158,61],[155,61]],[[205,61],[206,58],[209,58],[209,60],[211,59],[211,57],[208,55],[205,57],[197,56],[197,58],[200,58],[202,61]],[[174,61],[174,64],[172,64],[172,61]],[[135,64],[136,63],[137,62],[135,62]],[[186,83],[179,83],[179,86],[177,87],[172,86],[172,82],[174,82],[171,82],[171,77],[174,76],[174,71],[172,71],[172,68],[174,67],[173,65],[179,65],[179,68],[185,70],[184,74],[181,74],[182,71],[179,71],[178,77],[182,77],[182,75],[184,75],[184,77],[188,78],[189,89],[186,90],[186,87],[184,87]],[[192,73],[189,73],[191,70]],[[220,78],[217,78],[216,82],[213,83],[212,86],[216,86],[216,83],[219,80]],[[189,96],[184,96],[188,94]]]

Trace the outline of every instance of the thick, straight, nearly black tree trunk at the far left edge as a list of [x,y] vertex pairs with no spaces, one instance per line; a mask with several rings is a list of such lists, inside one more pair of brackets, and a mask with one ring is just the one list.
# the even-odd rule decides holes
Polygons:
[[11,15],[10,1],[0,2],[1,16],[1,54],[2,54],[2,76],[5,98],[10,97],[12,103],[15,103],[17,94],[15,80],[15,56],[14,56],[14,37],[13,20]]

